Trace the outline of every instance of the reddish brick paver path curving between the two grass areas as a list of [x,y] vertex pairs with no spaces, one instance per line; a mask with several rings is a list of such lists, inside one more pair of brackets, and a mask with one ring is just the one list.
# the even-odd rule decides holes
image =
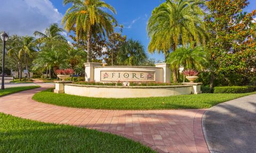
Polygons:
[[201,124],[205,109],[107,111],[60,107],[31,100],[36,92],[50,87],[39,85],[42,88],[1,97],[0,112],[123,135],[159,152],[209,152]]

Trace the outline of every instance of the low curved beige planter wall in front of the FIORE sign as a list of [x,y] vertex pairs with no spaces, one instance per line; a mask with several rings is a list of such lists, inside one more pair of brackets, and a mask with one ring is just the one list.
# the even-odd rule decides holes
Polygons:
[[65,84],[65,94],[98,98],[167,97],[191,94],[191,85],[162,87],[111,87]]

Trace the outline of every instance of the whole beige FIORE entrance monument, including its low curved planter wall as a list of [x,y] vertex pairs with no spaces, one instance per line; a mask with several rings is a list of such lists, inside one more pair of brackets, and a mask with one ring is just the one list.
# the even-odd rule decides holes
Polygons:
[[94,86],[58,81],[54,92],[99,98],[166,97],[201,94],[202,83],[187,82],[177,86],[125,86],[127,82],[171,83],[170,65],[167,63],[155,65],[101,66],[100,63],[85,63],[86,82],[123,82],[124,86]]

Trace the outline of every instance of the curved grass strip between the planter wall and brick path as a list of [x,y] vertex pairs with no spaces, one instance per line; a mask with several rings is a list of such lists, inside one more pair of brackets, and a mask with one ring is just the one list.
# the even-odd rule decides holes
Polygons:
[[35,94],[33,99],[42,103],[76,108],[150,110],[210,108],[219,103],[251,94],[256,94],[256,92],[248,94],[199,94],[171,97],[115,99],[54,94],[51,90],[45,90]]

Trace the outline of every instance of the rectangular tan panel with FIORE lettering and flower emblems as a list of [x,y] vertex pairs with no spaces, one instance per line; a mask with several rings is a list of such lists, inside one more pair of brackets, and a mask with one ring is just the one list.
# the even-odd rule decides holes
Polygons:
[[100,81],[155,81],[155,71],[100,71]]

